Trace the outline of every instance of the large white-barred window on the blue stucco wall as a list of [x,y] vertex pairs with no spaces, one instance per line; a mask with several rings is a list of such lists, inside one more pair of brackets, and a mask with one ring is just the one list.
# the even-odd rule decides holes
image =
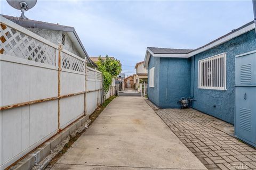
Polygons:
[[222,53],[198,61],[198,88],[226,90],[226,55]]

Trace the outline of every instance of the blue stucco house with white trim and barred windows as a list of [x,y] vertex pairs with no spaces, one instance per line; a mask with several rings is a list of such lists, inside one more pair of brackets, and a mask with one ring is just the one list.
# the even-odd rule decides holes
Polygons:
[[148,47],[148,99],[159,108],[178,108],[182,97],[192,107],[234,124],[235,58],[256,50],[254,22],[197,49]]

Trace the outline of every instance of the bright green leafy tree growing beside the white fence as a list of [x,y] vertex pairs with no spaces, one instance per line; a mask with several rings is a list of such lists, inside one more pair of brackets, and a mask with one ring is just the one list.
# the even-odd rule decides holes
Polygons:
[[113,58],[108,57],[106,55],[106,58],[102,59],[101,56],[99,56],[99,61],[97,62],[99,71],[102,72],[103,76],[103,89],[104,92],[108,92],[112,79],[116,78],[117,75],[122,71],[122,66],[120,61],[114,60]]

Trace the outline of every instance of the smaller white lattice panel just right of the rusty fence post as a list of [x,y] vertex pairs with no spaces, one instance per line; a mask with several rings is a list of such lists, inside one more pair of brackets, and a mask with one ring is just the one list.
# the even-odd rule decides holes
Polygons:
[[62,68],[64,69],[84,72],[84,63],[84,61],[78,60],[69,54],[62,53]]

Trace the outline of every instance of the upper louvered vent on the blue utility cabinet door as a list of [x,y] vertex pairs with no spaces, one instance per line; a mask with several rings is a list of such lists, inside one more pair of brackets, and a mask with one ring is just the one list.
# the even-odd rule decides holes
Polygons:
[[240,67],[240,81],[242,85],[252,84],[252,64],[244,64]]

